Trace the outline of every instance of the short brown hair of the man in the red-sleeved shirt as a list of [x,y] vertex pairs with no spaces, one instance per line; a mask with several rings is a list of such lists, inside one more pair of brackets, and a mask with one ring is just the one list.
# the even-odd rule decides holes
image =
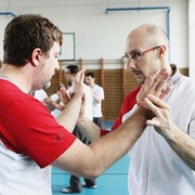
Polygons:
[[49,54],[54,41],[63,43],[62,31],[48,18],[39,14],[18,15],[4,29],[3,62],[24,66],[31,61],[36,48]]

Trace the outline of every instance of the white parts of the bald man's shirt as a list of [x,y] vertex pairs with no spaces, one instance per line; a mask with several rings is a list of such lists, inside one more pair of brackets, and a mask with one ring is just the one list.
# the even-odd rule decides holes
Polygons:
[[[174,89],[167,98],[174,123],[195,139],[195,83],[176,73],[169,83]],[[131,115],[134,108],[130,110]],[[128,114],[123,116],[123,120]],[[194,195],[195,172],[173,152],[166,140],[147,126],[129,152],[130,195]]]

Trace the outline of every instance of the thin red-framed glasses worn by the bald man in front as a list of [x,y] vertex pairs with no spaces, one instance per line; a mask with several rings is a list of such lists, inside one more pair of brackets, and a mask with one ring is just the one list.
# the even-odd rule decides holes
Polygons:
[[135,62],[138,62],[138,61],[141,60],[141,56],[142,56],[142,55],[144,55],[145,53],[147,53],[147,52],[150,52],[150,51],[153,51],[153,50],[155,50],[155,49],[158,49],[158,48],[160,48],[160,46],[151,48],[151,49],[145,50],[145,51],[143,51],[143,52],[132,52],[132,53],[129,54],[129,55],[128,55],[127,53],[125,53],[125,55],[122,55],[121,58],[122,58],[123,62],[128,62],[128,61],[132,61],[132,60],[135,61]]

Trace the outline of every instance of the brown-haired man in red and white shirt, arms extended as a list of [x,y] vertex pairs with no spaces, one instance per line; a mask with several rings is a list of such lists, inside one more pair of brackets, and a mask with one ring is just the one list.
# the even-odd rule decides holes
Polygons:
[[[57,57],[62,32],[48,18],[35,14],[14,17],[5,27],[3,67],[0,70],[0,190],[1,194],[51,195],[51,167],[95,178],[127,153],[141,136],[152,112],[138,107],[115,132],[89,146],[73,131],[78,116],[83,116],[83,79],[80,70],[74,78],[74,96],[57,117],[29,95],[46,89],[60,68]],[[157,94],[167,80],[164,72],[152,86],[143,86],[142,99]],[[160,84],[160,86],[161,86]],[[145,93],[146,91],[146,93]],[[169,88],[166,92],[169,92]],[[62,91],[62,96],[65,93]],[[141,100],[142,100],[141,99]],[[81,122],[81,121],[80,121]]]

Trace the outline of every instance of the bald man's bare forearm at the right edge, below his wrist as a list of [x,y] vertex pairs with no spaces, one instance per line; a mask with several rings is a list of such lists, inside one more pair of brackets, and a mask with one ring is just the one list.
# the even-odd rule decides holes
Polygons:
[[173,126],[173,131],[165,138],[178,156],[192,169],[195,170],[195,141]]

